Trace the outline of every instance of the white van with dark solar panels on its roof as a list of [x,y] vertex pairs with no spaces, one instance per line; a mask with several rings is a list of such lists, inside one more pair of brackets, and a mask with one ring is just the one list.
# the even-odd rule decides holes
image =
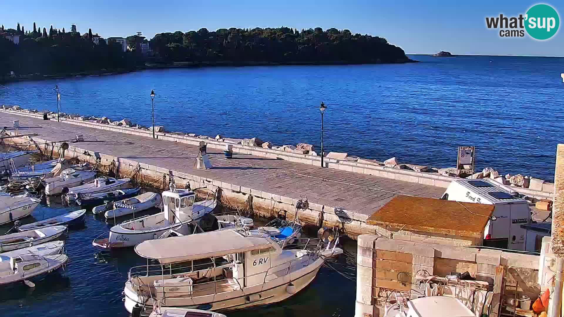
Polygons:
[[484,246],[510,250],[526,250],[527,229],[531,210],[528,201],[512,195],[490,179],[453,180],[440,199],[495,205],[493,216],[484,232]]

